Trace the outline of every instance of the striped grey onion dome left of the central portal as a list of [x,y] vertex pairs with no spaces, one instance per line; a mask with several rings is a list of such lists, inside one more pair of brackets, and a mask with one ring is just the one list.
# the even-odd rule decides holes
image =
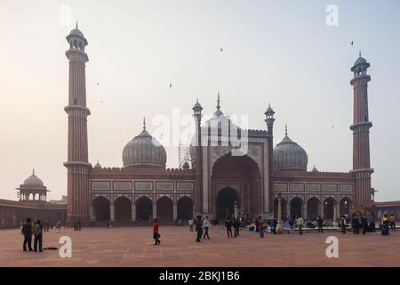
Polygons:
[[125,145],[123,162],[124,167],[165,167],[166,151],[143,126],[143,131]]

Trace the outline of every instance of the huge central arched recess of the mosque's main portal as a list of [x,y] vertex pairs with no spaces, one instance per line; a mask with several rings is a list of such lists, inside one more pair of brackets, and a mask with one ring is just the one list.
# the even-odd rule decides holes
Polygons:
[[254,216],[263,212],[260,169],[254,160],[247,155],[232,156],[228,153],[213,164],[211,209],[214,215],[224,219],[227,214],[233,214],[233,196],[227,201],[219,198],[220,195],[228,195],[225,189],[220,190],[227,184],[236,185],[235,188],[241,191],[236,191],[237,207],[241,214]]

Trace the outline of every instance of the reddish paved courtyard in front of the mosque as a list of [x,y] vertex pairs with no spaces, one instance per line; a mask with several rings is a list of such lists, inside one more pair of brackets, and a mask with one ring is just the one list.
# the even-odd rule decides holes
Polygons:
[[[195,242],[187,227],[161,227],[160,246],[153,246],[150,227],[64,229],[44,233],[44,247],[60,247],[60,236],[72,239],[72,257],[58,250],[23,252],[18,229],[0,230],[0,266],[400,266],[400,232],[356,236],[351,232],[271,235],[261,240],[242,231],[228,240],[224,229],[212,240]],[[339,238],[339,258],[328,258],[325,239]]]

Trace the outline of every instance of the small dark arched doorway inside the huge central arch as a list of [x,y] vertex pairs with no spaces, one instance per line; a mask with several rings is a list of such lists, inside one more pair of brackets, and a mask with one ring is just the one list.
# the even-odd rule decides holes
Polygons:
[[236,207],[240,208],[239,194],[235,189],[225,187],[220,190],[217,195],[217,217],[221,220],[228,216],[233,217],[235,215],[235,202]]

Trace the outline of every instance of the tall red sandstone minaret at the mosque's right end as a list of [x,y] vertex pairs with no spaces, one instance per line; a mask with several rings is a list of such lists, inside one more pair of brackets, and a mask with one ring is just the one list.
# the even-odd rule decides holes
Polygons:
[[351,71],[354,77],[351,85],[354,87],[354,118],[350,129],[353,131],[353,170],[356,179],[355,207],[371,207],[371,174],[370,165],[370,128],[372,122],[368,117],[368,82],[371,77],[367,74],[370,64],[361,57],[356,60]]

